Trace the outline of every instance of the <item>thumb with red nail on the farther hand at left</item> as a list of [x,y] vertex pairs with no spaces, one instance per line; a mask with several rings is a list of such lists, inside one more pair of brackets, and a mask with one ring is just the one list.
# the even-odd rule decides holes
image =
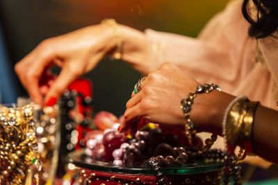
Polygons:
[[44,103],[47,106],[52,106],[56,103],[56,100],[60,98],[63,91],[74,81],[83,74],[81,67],[76,65],[77,62],[67,62],[63,65],[62,71],[54,80],[49,91],[47,92]]

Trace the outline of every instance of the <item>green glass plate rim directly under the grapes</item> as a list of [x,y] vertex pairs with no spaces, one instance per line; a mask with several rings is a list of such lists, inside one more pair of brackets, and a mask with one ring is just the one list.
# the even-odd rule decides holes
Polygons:
[[[148,166],[134,166],[132,168],[126,166],[115,166],[111,163],[95,161],[91,157],[85,155],[85,150],[76,150],[68,155],[70,163],[77,167],[88,170],[98,170],[108,173],[128,173],[128,174],[145,174],[155,175],[154,170]],[[221,170],[224,167],[222,162],[204,161],[200,163],[188,163],[184,166],[172,166],[162,168],[165,175],[186,175],[196,173],[206,173],[213,170]]]

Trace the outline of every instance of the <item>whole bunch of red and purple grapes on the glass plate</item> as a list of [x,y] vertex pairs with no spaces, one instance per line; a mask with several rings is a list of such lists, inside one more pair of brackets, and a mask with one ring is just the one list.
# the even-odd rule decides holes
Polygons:
[[[111,162],[116,166],[142,166],[156,159],[161,166],[183,165],[194,162],[202,140],[195,136],[193,146],[183,130],[146,127],[135,136],[117,131],[119,119],[109,112],[95,116],[99,130],[85,136],[85,154],[96,161]],[[154,158],[155,157],[155,158]]]

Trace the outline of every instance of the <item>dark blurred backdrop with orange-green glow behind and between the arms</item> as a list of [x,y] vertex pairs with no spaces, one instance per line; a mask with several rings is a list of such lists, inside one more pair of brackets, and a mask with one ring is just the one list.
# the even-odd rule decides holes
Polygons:
[[[226,4],[227,0],[1,0],[0,102],[12,103],[27,95],[13,66],[43,39],[99,24],[104,18],[142,31],[152,28],[196,37]],[[122,61],[101,61],[85,75],[93,83],[94,112],[123,114],[140,76]]]

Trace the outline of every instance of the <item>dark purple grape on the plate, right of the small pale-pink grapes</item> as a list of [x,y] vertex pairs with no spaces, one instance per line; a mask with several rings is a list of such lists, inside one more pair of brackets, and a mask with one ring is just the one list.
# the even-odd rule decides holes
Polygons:
[[124,153],[124,164],[126,166],[136,166],[142,163],[142,154],[136,148],[130,148]]

